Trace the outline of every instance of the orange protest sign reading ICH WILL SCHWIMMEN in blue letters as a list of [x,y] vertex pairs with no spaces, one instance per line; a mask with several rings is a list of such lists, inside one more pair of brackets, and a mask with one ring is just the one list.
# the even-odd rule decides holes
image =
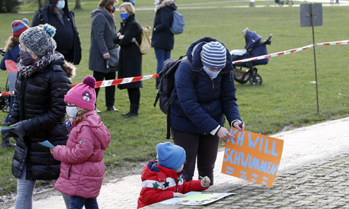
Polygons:
[[236,139],[225,144],[222,173],[271,187],[279,168],[283,140],[230,128]]

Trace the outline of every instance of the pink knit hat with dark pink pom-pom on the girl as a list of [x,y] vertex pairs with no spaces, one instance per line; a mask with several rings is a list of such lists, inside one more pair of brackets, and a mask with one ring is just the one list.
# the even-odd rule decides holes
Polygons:
[[75,104],[89,111],[94,110],[94,103],[96,102],[96,79],[88,75],[82,81],[82,84],[77,84],[71,88],[64,96],[64,102]]

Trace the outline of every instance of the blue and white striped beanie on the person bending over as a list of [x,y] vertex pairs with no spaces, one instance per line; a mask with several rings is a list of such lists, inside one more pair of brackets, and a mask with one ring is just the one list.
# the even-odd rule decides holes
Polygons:
[[227,51],[218,41],[211,41],[202,46],[201,61],[206,67],[223,69],[227,61]]

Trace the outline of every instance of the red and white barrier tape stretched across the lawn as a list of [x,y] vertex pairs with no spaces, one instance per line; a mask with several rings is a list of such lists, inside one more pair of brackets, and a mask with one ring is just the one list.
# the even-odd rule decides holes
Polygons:
[[[341,41],[334,41],[334,42],[320,42],[320,43],[315,43],[315,46],[325,46],[325,45],[349,45],[349,40],[341,40]],[[242,59],[242,60],[238,60],[238,61],[233,61],[232,63],[244,63],[244,62],[248,62],[248,61],[255,61],[255,60],[260,60],[260,59],[267,59],[270,57],[274,57],[274,56],[281,56],[281,55],[285,55],[285,54],[291,54],[294,52],[300,52],[304,49],[309,49],[311,47],[313,47],[314,45],[307,45],[305,47],[300,47],[297,49],[290,49],[290,50],[286,50],[283,52],[276,52],[273,54],[267,54],[267,55],[262,55],[262,56],[255,56],[252,58],[248,58],[248,59]],[[114,79],[114,80],[106,80],[106,81],[101,81],[101,82],[96,82],[96,88],[101,88],[101,87],[106,87],[106,86],[114,86],[114,85],[119,85],[119,84],[128,84],[131,82],[140,82],[140,81],[144,81],[147,79],[151,79],[154,77],[158,77],[158,74],[154,74],[154,75],[144,75],[144,76],[138,76],[138,77],[126,77],[126,78],[121,78],[121,79]],[[73,84],[72,87],[76,86],[77,84]],[[13,94],[13,91],[9,91],[9,92],[5,92],[5,93],[0,93],[0,97],[4,96],[4,95],[11,95]]]

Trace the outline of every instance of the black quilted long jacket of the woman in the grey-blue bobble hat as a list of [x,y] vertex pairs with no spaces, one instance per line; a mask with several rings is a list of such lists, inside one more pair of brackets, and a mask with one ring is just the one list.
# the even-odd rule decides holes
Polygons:
[[60,162],[54,160],[50,149],[38,144],[48,140],[56,146],[65,145],[68,130],[64,125],[66,104],[64,95],[71,88],[69,77],[73,66],[62,67],[64,58],[58,52],[54,61],[45,69],[34,72],[30,77],[18,74],[15,102],[10,124],[22,121],[26,134],[15,136],[16,148],[13,155],[12,173],[22,175],[27,165],[27,180],[52,180],[59,177]]

